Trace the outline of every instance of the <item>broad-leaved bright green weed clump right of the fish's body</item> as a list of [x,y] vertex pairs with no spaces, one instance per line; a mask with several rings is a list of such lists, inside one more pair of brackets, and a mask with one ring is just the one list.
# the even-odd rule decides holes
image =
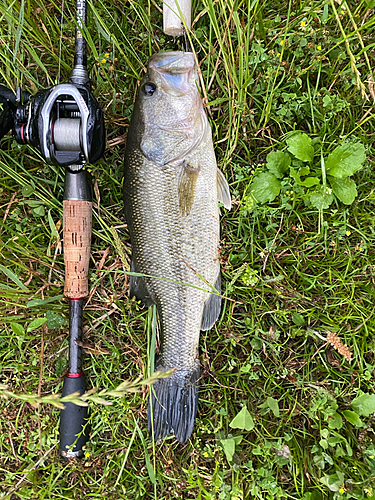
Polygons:
[[294,132],[285,142],[292,156],[279,149],[267,155],[268,171],[253,178],[249,194],[244,199],[245,210],[251,209],[256,202],[272,202],[280,193],[282,207],[286,210],[292,210],[292,203],[298,199],[321,214],[335,199],[345,205],[354,202],[358,193],[351,176],[366,159],[362,144],[341,144],[327,158],[320,148],[319,161],[314,163],[313,141],[307,134]]

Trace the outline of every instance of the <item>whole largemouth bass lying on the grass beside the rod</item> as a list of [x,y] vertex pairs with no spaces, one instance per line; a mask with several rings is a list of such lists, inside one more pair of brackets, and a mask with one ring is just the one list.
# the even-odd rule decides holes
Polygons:
[[[148,62],[130,123],[124,202],[132,242],[130,295],[156,304],[161,348],[156,370],[176,369],[151,389],[149,432],[191,436],[198,403],[200,330],[220,314],[219,208],[230,209],[190,52]],[[214,288],[213,288],[214,287]],[[152,403],[152,404],[151,404]]]

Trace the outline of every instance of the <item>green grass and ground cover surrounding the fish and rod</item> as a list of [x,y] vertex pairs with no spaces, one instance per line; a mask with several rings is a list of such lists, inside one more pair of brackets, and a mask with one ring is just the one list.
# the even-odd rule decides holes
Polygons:
[[[152,444],[142,390],[108,398],[111,406],[91,403],[85,458],[66,464],[57,452],[58,409],[3,397],[1,498],[372,498],[375,408],[366,415],[352,404],[373,394],[375,369],[372,7],[193,2],[192,44],[234,206],[222,214],[228,299],[215,328],[202,332],[193,437],[184,446],[174,438]],[[2,0],[2,83],[48,88],[59,60],[61,81],[68,78],[72,12],[65,2],[60,57],[60,6]],[[161,31],[159,3],[98,0],[88,17],[88,64],[108,147],[90,166],[96,199],[84,363],[90,386],[109,390],[153,369],[155,312],[128,298],[122,164],[137,79],[153,52],[175,43]],[[272,203],[246,205],[266,156],[293,130],[306,132],[317,151],[342,141],[366,148],[356,200],[335,201],[320,227],[319,212],[288,185]],[[68,348],[64,172],[10,136],[1,145],[0,382],[46,398],[61,391]],[[347,344],[351,361],[326,342],[328,332]],[[243,406],[251,420],[231,427]]]

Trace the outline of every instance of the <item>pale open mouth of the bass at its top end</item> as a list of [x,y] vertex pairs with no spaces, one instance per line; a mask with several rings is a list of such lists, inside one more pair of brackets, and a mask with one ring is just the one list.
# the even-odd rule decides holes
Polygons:
[[163,90],[181,96],[196,88],[196,65],[192,52],[159,52],[148,63],[150,76],[156,72]]

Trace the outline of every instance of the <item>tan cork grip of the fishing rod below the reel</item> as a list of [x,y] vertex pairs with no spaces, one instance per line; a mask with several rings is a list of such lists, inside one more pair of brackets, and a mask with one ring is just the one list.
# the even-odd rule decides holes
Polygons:
[[64,200],[64,294],[82,299],[89,294],[92,202]]

